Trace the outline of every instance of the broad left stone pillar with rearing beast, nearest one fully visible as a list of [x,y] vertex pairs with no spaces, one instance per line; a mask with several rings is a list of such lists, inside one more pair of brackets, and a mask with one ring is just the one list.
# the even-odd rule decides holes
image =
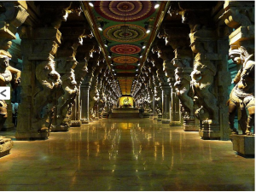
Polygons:
[[[18,109],[18,125],[15,137],[20,140],[46,139],[49,137],[54,106],[49,106],[61,88],[60,74],[55,71],[54,55],[61,44],[62,16],[68,15],[67,3],[54,7],[53,12],[45,9],[40,2],[41,13],[54,16],[55,20],[42,20],[47,27],[20,26],[21,55],[23,72],[21,79],[21,103]],[[65,7],[67,5],[67,7]],[[44,22],[45,21],[45,22]],[[57,26],[52,25],[58,23]],[[24,113],[26,112],[26,113]]]

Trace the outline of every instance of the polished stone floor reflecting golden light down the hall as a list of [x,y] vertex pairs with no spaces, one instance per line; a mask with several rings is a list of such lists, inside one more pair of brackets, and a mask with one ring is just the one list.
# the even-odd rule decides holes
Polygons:
[[100,119],[14,143],[0,159],[1,191],[254,190],[254,158],[154,119]]

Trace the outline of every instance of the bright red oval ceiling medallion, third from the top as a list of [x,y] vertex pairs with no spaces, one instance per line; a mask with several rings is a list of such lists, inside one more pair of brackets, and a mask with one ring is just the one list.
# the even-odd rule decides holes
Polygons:
[[133,44],[118,44],[111,47],[110,51],[120,55],[132,55],[141,52],[141,48]]

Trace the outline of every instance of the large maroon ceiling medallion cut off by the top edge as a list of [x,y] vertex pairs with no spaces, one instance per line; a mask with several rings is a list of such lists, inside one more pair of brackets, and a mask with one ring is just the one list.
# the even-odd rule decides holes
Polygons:
[[155,10],[150,1],[96,1],[94,7],[102,17],[119,22],[144,20]]

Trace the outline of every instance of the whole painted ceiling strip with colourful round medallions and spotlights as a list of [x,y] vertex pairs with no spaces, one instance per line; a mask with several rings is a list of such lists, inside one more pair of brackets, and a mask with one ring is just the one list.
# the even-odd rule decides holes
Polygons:
[[[119,81],[122,95],[131,94],[131,86],[146,60],[154,40],[160,15],[165,9],[157,1],[83,2],[95,36],[102,45],[113,77]],[[159,8],[154,8],[156,4]],[[89,17],[89,18],[88,18]]]

